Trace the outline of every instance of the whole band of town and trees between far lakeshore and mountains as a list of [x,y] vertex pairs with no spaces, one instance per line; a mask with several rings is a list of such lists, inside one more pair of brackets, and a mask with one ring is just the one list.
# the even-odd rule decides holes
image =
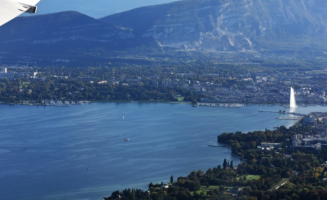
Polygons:
[[[201,103],[325,104],[327,71],[183,73],[169,67],[3,66],[0,101],[188,101]],[[17,80],[20,79],[18,82]],[[9,82],[13,82],[8,84]],[[43,82],[43,83],[40,83]],[[15,85],[16,89],[11,88]],[[18,85],[16,85],[18,84]],[[39,86],[48,87],[41,91]],[[19,87],[19,88],[17,88]],[[145,89],[144,89],[145,88]],[[161,88],[161,89],[160,89]],[[6,92],[11,90],[11,92]],[[88,92],[86,92],[88,90]],[[15,92],[13,92],[15,91]],[[6,95],[6,93],[8,95]],[[40,95],[41,94],[41,95]],[[31,102],[30,102],[31,101]]]

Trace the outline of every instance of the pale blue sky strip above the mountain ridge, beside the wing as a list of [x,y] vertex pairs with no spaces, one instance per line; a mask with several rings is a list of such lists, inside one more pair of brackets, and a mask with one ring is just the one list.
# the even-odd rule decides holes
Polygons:
[[177,0],[41,0],[37,14],[76,10],[100,18],[146,5],[156,5]]

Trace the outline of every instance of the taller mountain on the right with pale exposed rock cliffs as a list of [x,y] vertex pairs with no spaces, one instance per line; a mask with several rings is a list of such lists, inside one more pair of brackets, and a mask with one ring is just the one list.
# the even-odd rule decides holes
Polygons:
[[326,44],[326,10],[325,0],[182,0],[101,20],[178,48],[306,48]]

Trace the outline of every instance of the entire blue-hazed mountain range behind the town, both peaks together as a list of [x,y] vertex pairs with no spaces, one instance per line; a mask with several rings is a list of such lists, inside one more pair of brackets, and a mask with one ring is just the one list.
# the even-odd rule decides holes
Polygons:
[[323,51],[326,10],[325,0],[181,0],[101,19],[76,11],[17,17],[0,27],[0,52],[69,55],[148,42],[151,50]]

